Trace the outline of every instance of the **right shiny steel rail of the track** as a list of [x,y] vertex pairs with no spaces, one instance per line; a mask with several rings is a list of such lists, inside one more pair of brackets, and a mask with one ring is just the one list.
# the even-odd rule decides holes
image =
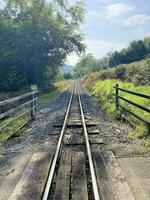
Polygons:
[[82,108],[82,102],[81,102],[81,98],[80,98],[79,88],[78,88],[78,99],[79,99],[80,112],[81,112],[82,124],[83,124],[83,129],[84,129],[86,148],[87,148],[87,153],[88,153],[88,160],[89,160],[89,166],[90,166],[90,172],[91,172],[91,178],[92,178],[94,198],[95,198],[95,200],[100,200],[97,181],[96,181],[96,175],[95,175],[95,170],[94,170],[94,164],[93,164],[93,159],[92,159],[91,147],[90,147],[89,137],[88,137],[88,133],[87,133],[86,122],[85,122],[85,118],[84,118],[84,112],[83,112],[83,108]]

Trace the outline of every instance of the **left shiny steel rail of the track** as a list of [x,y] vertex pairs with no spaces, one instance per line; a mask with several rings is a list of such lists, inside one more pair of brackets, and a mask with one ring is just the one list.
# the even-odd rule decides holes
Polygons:
[[70,107],[71,107],[71,103],[72,103],[73,94],[74,94],[74,86],[73,86],[72,93],[71,93],[71,96],[70,96],[69,104],[68,104],[66,115],[65,115],[65,120],[64,120],[63,127],[62,127],[62,130],[61,130],[61,134],[60,134],[60,137],[59,137],[59,141],[58,141],[58,144],[57,144],[57,147],[56,147],[56,152],[55,152],[55,155],[54,155],[54,158],[53,158],[53,161],[52,161],[51,169],[50,169],[50,172],[49,172],[49,175],[48,175],[48,180],[47,180],[47,183],[46,183],[46,186],[45,186],[45,190],[44,190],[42,200],[47,200],[48,196],[49,196],[49,191],[50,191],[52,180],[53,180],[53,177],[54,177],[57,159],[58,159],[60,149],[61,149],[62,139],[63,139],[64,132],[65,132],[65,129],[66,129],[66,125],[67,125],[67,119],[68,119],[68,115],[69,115],[69,111],[70,111]]

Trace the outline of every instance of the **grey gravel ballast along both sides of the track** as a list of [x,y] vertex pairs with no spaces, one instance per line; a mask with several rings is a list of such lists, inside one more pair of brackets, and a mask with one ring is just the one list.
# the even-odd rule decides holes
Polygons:
[[[28,125],[26,134],[7,141],[4,144],[5,152],[48,151],[55,149],[61,129],[53,125],[63,122],[70,98],[70,90],[62,92],[55,102],[39,104],[37,115],[34,121]],[[103,113],[98,102],[83,88],[81,89],[81,98],[85,116],[92,118],[98,126],[99,135],[94,137],[102,138],[104,141],[104,144],[99,145],[98,148],[105,149],[115,146],[114,149],[120,154],[131,147],[132,149],[139,148],[137,141],[128,136],[127,132],[130,127],[127,124],[111,121]]]

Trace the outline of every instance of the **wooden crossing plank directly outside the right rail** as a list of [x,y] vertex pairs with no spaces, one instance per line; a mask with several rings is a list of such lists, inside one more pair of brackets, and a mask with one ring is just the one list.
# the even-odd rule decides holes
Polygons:
[[101,199],[103,200],[119,200],[115,194],[113,185],[108,177],[107,170],[104,166],[102,155],[99,150],[94,150],[93,161],[97,177],[98,189]]

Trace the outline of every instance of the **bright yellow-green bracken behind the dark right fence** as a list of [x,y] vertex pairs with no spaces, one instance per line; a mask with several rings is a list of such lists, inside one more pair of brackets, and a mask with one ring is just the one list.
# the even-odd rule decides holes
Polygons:
[[[121,88],[131,90],[134,92],[139,93],[150,93],[150,86],[137,86],[134,83],[125,83],[120,80],[98,80],[96,78],[96,74],[92,76],[90,75],[91,79],[85,78],[84,86],[92,93],[93,96],[98,98],[101,108],[109,114],[109,116],[113,118],[120,118],[121,115],[128,118],[130,123],[135,125],[135,129],[132,133],[130,133],[134,137],[146,137],[149,135],[149,128],[140,122],[138,119],[133,117],[132,115],[126,113],[125,111],[121,110],[120,112],[116,112],[115,104],[113,103],[114,97],[114,89],[113,86],[117,83]],[[94,78],[93,78],[94,77]],[[144,107],[150,107],[150,101],[148,99],[143,99],[141,97],[133,96],[128,93],[124,93],[120,91],[120,96],[123,96],[126,99],[132,100],[137,104],[143,105]],[[126,107],[128,110],[136,113],[139,116],[142,116],[145,120],[149,121],[149,114],[141,109],[138,109],[132,105],[127,104],[124,101],[120,100],[121,105]]]

